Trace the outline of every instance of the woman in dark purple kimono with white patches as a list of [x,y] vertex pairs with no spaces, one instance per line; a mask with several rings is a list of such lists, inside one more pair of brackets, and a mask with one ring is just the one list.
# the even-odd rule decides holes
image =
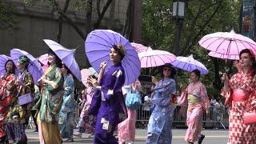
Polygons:
[[102,62],[98,82],[94,78],[89,79],[97,89],[89,110],[89,114],[97,115],[94,130],[95,144],[118,144],[113,133],[120,122],[119,114],[124,113],[122,86],[125,82],[125,73],[121,61],[125,54],[122,45],[114,45],[110,50],[110,60],[114,65],[105,70],[106,62]]

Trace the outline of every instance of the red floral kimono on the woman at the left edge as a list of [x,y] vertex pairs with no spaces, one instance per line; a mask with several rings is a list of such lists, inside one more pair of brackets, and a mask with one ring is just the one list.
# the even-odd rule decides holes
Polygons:
[[5,74],[0,79],[0,139],[6,135],[6,114],[16,91],[15,78],[14,74]]

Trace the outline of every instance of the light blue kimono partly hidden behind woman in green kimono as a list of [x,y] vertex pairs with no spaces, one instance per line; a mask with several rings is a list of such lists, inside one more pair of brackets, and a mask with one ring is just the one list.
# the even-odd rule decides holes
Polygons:
[[74,131],[74,80],[72,75],[64,75],[64,96],[59,112],[58,125],[62,138],[71,138]]

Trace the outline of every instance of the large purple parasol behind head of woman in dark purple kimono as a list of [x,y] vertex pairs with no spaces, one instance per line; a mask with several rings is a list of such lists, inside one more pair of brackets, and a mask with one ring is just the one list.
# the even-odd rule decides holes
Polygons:
[[121,43],[126,49],[126,56],[122,59],[122,67],[126,74],[125,85],[129,85],[138,79],[141,73],[141,63],[134,47],[121,34],[113,30],[94,30],[90,32],[85,42],[86,55],[95,70],[100,69],[100,64],[103,61],[108,62],[106,66],[108,68],[113,65],[110,61],[110,49],[118,43]]

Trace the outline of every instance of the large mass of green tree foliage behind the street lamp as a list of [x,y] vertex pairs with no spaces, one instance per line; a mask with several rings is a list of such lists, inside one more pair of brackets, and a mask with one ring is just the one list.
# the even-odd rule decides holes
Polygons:
[[[238,33],[241,1],[194,0],[186,2],[185,19],[181,32],[182,56],[193,54],[194,59],[202,62],[207,67],[210,73],[202,76],[201,80],[211,93],[211,91],[214,91],[212,90],[214,89],[214,63],[213,59],[207,56],[209,51],[199,46],[198,41],[204,35],[218,31],[234,29]],[[218,12],[207,23],[207,20],[214,14],[216,9]],[[152,46],[154,49],[167,50],[174,53],[176,23],[171,16],[172,1],[143,1],[142,10],[142,43],[145,46]],[[187,50],[186,47],[188,47]],[[225,65],[223,60],[218,60],[220,70],[223,70]],[[189,74],[184,70],[178,70],[177,82],[178,86],[181,83],[188,84]]]

